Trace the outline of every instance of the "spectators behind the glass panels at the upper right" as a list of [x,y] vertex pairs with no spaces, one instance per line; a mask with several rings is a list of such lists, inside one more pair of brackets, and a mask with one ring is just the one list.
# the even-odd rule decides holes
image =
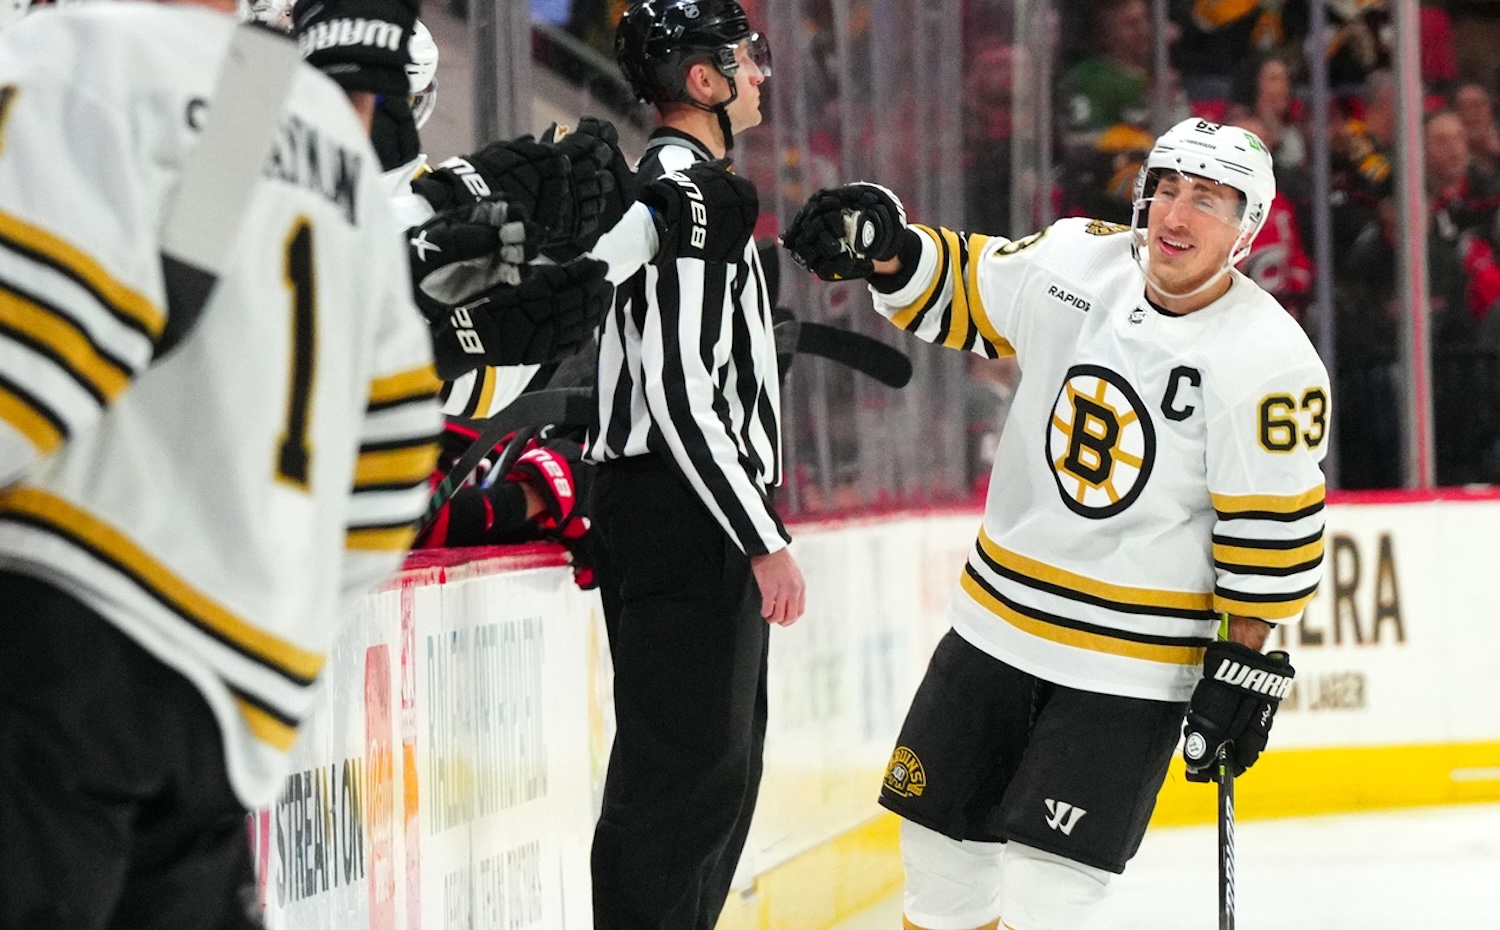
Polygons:
[[[1396,78],[1394,12],[1386,0],[1328,0],[1328,44],[1308,39],[1311,0],[1173,0],[1167,74],[1156,74],[1158,30],[1148,0],[1056,4],[1053,99],[1058,213],[1130,222],[1132,182],[1152,128],[1186,116],[1240,126],[1272,150],[1278,195],[1256,249],[1240,266],[1316,336],[1314,282],[1334,284],[1340,486],[1395,488],[1406,480],[1396,292],[1398,224],[1419,218],[1394,201]],[[992,6],[994,6],[992,3]],[[1010,8],[1010,4],[1000,4]],[[969,38],[969,60],[1010,69],[1002,9]],[[1452,12],[1420,8],[1424,162],[1428,214],[1430,333],[1437,480],[1500,483],[1500,57],[1458,68]],[[1026,50],[1030,51],[1030,50]],[[1328,63],[1332,268],[1312,261],[1310,54]],[[1484,56],[1479,56],[1480,58]],[[1474,56],[1468,56],[1474,58]],[[1006,78],[970,82],[972,114],[994,110],[975,93]],[[1018,106],[1018,105],[1017,105]],[[1161,112],[1158,112],[1161,111]],[[1005,128],[970,120],[970,190],[1010,182]],[[1006,150],[1000,153],[1000,150]],[[1000,182],[994,174],[1004,172]],[[969,222],[1006,230],[993,196],[970,200]]]

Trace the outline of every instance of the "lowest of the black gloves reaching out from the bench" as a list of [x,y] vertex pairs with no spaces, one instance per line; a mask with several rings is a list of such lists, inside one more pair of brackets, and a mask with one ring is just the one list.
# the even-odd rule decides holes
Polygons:
[[526,266],[519,285],[500,284],[452,308],[434,308],[418,288],[432,327],[438,376],[452,381],[484,364],[543,364],[584,350],[609,312],[609,266],[592,258]]

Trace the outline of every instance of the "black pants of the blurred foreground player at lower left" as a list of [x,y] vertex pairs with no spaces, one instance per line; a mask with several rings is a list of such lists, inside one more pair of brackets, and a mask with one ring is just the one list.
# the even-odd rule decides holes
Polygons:
[[244,807],[198,688],[0,572],[0,928],[260,927]]

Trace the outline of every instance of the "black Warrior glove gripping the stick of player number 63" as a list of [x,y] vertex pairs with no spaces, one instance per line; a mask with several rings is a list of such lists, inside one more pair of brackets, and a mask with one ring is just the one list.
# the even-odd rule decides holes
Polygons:
[[1292,690],[1296,669],[1286,652],[1257,652],[1238,642],[1215,642],[1203,656],[1203,680],[1192,690],[1182,726],[1182,758],[1190,782],[1218,780],[1215,759],[1228,744],[1236,777],[1266,748],[1276,705]]

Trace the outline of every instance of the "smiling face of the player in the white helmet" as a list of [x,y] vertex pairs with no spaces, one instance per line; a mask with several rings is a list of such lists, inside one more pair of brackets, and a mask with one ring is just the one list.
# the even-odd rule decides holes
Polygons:
[[1239,240],[1242,202],[1228,184],[1192,174],[1162,177],[1146,214],[1152,284],[1180,294],[1216,274]]

